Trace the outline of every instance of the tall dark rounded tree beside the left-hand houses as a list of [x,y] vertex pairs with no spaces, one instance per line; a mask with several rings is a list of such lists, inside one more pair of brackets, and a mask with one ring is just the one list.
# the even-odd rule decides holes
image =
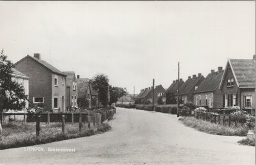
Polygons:
[[97,91],[99,102],[103,107],[108,106],[109,102],[109,79],[107,75],[97,74],[92,79],[92,88]]

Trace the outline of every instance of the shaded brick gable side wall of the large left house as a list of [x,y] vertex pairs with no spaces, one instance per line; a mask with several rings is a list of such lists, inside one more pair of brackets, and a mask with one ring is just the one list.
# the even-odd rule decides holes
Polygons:
[[44,97],[45,109],[52,109],[52,74],[34,59],[24,58],[15,69],[29,77],[29,102],[33,97]]

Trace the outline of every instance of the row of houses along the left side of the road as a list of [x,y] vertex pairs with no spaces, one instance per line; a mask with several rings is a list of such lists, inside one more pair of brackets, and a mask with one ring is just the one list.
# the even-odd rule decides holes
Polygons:
[[13,81],[23,84],[29,102],[45,104],[45,109],[65,112],[79,107],[79,99],[87,100],[88,107],[97,106],[97,93],[89,79],[76,77],[75,72],[61,72],[42,60],[39,53],[17,61],[12,77]]

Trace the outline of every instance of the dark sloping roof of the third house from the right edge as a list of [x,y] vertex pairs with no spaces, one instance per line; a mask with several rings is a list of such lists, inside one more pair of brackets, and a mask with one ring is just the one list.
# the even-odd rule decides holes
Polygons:
[[187,79],[186,82],[182,84],[182,86],[180,86],[180,95],[188,94],[193,88],[195,88],[196,84],[201,79],[204,79],[203,75],[201,75],[200,77]]

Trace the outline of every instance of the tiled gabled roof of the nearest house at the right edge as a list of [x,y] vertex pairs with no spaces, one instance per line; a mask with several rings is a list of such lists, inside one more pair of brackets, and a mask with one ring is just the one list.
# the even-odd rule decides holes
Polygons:
[[228,64],[230,65],[238,88],[256,87],[256,65],[253,59],[228,59],[225,71],[221,77],[220,88],[223,84]]

